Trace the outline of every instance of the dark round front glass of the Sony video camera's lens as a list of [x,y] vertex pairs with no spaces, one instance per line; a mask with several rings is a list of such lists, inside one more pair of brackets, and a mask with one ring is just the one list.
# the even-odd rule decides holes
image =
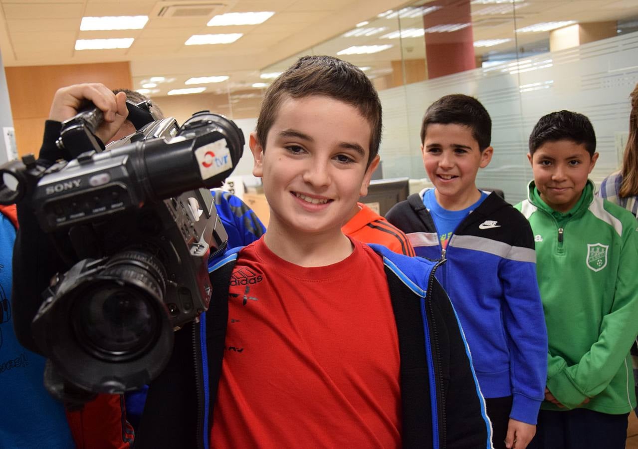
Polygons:
[[157,336],[156,305],[137,288],[100,283],[78,303],[73,320],[77,334],[84,337],[86,346],[103,356],[133,357]]

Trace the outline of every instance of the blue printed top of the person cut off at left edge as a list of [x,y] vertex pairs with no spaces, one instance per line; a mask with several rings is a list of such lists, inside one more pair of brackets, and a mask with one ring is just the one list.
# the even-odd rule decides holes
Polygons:
[[18,342],[11,321],[15,228],[0,214],[0,448],[74,448],[64,407],[43,385],[45,359]]

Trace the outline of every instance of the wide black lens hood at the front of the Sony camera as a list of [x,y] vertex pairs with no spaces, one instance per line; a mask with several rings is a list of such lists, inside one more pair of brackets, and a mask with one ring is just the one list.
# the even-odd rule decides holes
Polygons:
[[[34,339],[64,378],[85,390],[109,394],[147,385],[163,371],[174,343],[166,307],[151,292],[148,279],[140,281],[139,272],[123,278],[113,274],[104,270],[103,260],[78,262],[48,290],[51,295],[31,326]],[[96,291],[103,294],[91,297]],[[124,300],[117,296],[122,294]],[[108,316],[96,318],[100,312]],[[140,316],[148,320],[148,330],[137,335]],[[108,331],[114,322],[117,334],[112,336]]]

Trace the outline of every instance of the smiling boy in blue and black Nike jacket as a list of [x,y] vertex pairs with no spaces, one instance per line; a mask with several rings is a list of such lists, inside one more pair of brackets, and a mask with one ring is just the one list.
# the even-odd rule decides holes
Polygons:
[[421,151],[434,189],[395,205],[386,218],[417,256],[445,260],[436,277],[468,340],[496,448],[524,448],[535,434],[547,371],[547,331],[534,240],[526,219],[477,189],[491,160],[491,119],[475,98],[448,95],[423,119]]

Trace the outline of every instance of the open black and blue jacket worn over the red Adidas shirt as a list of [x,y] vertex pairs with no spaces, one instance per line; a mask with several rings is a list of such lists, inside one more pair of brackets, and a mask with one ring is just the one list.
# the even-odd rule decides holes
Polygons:
[[[403,447],[490,448],[491,426],[470,353],[452,304],[434,278],[440,263],[371,247],[383,256],[397,325]],[[173,356],[149,388],[136,449],[209,447],[228,287],[240,249],[211,264],[211,306],[199,323],[176,332]]]

